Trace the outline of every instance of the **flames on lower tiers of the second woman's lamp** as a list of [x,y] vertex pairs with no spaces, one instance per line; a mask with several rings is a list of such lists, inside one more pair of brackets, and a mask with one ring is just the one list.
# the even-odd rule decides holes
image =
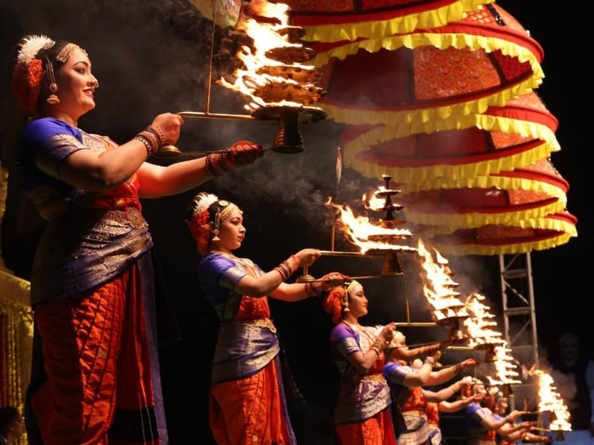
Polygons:
[[352,209],[347,205],[332,204],[330,200],[328,200],[326,205],[339,210],[339,222],[342,224],[342,231],[345,233],[345,236],[350,243],[359,247],[359,252],[365,253],[369,250],[414,252],[416,250],[414,247],[402,246],[391,242],[369,240],[370,237],[386,237],[387,239],[390,237],[409,238],[412,237],[410,230],[407,230],[406,228],[386,228],[374,225],[367,217],[356,217],[355,214],[353,214]]

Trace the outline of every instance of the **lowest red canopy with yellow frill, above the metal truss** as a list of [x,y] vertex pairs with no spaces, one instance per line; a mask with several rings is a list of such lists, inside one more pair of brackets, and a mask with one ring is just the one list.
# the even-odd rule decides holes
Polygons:
[[[544,250],[567,243],[577,236],[577,218],[558,212],[545,218],[526,221],[526,227],[485,225],[459,229],[451,234],[425,237],[447,255],[504,255]],[[430,229],[425,227],[425,229]]]

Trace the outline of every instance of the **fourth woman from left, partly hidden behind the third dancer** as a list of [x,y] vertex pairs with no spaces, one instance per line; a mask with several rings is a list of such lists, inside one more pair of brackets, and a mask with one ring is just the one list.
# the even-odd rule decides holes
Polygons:
[[[447,342],[440,344],[440,347],[445,345]],[[394,339],[388,348],[388,363],[384,366],[384,377],[390,385],[392,398],[396,402],[392,412],[398,444],[429,444],[431,430],[425,412],[426,396],[421,386],[447,382],[463,371],[476,366],[478,362],[469,358],[455,366],[434,372],[433,365],[441,356],[440,349],[434,348],[432,354],[426,357],[424,363],[415,370],[397,358],[397,354],[402,354],[399,349],[406,349],[406,337],[402,332],[394,334]],[[414,349],[409,354],[411,352],[414,352]],[[438,393],[429,393],[429,397],[434,401],[445,400],[453,396],[460,389],[459,386],[459,383],[454,383]]]

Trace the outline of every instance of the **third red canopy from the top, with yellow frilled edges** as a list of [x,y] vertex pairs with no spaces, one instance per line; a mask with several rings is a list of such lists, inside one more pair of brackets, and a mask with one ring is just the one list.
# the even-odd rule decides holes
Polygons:
[[482,115],[427,124],[433,132],[400,138],[392,135],[396,127],[348,127],[342,134],[345,166],[368,177],[391,174],[407,191],[484,187],[491,173],[524,168],[560,150],[557,119],[535,93]]

